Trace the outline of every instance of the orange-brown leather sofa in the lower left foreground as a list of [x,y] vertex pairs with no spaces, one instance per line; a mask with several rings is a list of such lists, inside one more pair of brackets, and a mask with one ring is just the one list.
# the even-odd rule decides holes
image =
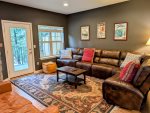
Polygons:
[[10,82],[3,82],[0,83],[0,113],[59,113],[59,111],[56,106],[39,111],[30,101],[13,92]]

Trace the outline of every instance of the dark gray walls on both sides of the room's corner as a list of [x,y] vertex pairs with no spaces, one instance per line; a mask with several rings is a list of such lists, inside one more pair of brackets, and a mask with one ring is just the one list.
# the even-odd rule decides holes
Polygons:
[[[37,48],[35,52],[36,70],[41,69],[39,59],[39,43],[37,25],[52,25],[65,27],[65,46],[95,47],[117,50],[145,50],[145,43],[150,37],[150,0],[130,0],[116,5],[97,8],[71,15],[38,10],[34,8],[0,2],[0,19],[31,22],[33,25],[33,40]],[[97,39],[97,24],[106,22],[106,39]],[[114,23],[128,22],[128,40],[114,41]],[[80,40],[80,26],[90,25],[90,41]],[[1,22],[0,22],[1,26]],[[68,29],[69,28],[69,29]],[[68,39],[67,39],[68,36]],[[0,42],[3,43],[0,27]],[[141,49],[142,48],[142,49]],[[144,49],[143,49],[144,48]],[[3,75],[7,78],[5,49],[2,52]],[[150,50],[150,49],[149,49]]]

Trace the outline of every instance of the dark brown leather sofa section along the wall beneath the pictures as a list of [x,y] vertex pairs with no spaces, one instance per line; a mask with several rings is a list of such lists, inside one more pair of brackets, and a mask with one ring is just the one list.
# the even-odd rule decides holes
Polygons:
[[[87,75],[106,79],[120,71],[120,62],[125,58],[121,51],[97,49],[93,63],[82,62],[83,48],[67,48],[72,50],[73,59],[57,59],[58,67],[72,66],[87,70]],[[124,55],[124,54],[123,54]]]

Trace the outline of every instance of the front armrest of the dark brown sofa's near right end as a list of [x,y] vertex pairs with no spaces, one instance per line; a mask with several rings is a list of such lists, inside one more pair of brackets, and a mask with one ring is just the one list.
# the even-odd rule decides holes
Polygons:
[[102,90],[103,98],[108,103],[130,110],[140,110],[144,100],[144,95],[140,90],[130,83],[121,81],[118,75],[106,79]]

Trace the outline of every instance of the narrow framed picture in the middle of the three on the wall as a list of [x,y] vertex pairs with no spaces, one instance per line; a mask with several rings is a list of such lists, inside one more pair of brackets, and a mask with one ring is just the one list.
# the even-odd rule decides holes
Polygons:
[[97,38],[105,39],[105,22],[97,24]]

